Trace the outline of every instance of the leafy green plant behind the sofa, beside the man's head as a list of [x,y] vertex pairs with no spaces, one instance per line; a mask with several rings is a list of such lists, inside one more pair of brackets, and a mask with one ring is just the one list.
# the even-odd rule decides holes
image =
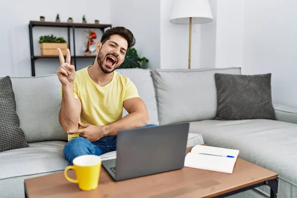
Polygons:
[[144,68],[144,63],[148,62],[146,57],[139,57],[137,50],[135,48],[130,48],[126,55],[125,60],[119,66],[119,69],[126,69],[126,68]]

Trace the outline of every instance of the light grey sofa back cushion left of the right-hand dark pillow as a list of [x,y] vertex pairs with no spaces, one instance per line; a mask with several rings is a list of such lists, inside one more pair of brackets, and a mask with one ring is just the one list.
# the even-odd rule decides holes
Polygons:
[[240,68],[151,71],[160,124],[214,119],[217,111],[215,73],[241,74]]

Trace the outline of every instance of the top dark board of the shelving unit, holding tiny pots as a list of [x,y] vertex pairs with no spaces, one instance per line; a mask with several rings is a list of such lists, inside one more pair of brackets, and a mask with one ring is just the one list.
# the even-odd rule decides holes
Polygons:
[[30,21],[29,25],[34,26],[48,26],[48,27],[75,27],[75,28],[99,28],[104,29],[111,27],[111,24],[95,24],[95,23],[67,23],[54,21]]

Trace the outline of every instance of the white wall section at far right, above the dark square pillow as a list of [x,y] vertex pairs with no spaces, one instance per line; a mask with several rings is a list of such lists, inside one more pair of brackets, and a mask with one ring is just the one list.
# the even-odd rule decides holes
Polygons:
[[243,73],[272,73],[272,97],[297,107],[297,1],[246,0]]

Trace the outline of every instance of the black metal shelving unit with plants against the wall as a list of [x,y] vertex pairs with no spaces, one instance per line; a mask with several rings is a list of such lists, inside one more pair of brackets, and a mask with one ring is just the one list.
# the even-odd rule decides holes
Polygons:
[[48,21],[30,21],[29,22],[29,38],[30,38],[30,53],[31,53],[31,70],[32,76],[35,76],[35,60],[38,58],[57,58],[58,56],[41,56],[34,55],[33,48],[33,27],[34,26],[43,26],[43,27],[61,27],[68,29],[68,48],[70,49],[70,28],[72,28],[73,34],[73,55],[71,56],[71,62],[74,60],[74,66],[76,70],[76,58],[89,58],[96,57],[90,55],[76,55],[75,54],[75,28],[92,28],[92,29],[101,29],[102,32],[106,28],[111,28],[111,24],[92,24],[92,23],[64,23],[64,22],[48,22]]

